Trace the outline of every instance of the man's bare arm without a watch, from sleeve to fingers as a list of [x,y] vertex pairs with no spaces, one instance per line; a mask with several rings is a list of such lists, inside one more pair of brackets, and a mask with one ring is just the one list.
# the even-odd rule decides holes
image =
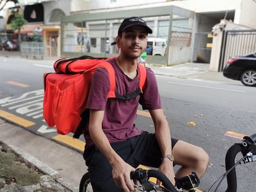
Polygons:
[[130,166],[114,151],[111,147],[108,138],[102,130],[102,121],[104,111],[90,109],[89,133],[97,146],[97,148],[108,159],[112,166],[112,174],[114,182],[124,191],[135,191],[134,186],[130,180],[130,172],[134,171],[134,167]]

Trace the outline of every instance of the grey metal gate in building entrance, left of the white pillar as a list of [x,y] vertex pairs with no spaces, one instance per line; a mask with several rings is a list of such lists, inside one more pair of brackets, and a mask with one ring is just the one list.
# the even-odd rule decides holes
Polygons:
[[193,62],[210,64],[212,42],[211,32],[195,33]]

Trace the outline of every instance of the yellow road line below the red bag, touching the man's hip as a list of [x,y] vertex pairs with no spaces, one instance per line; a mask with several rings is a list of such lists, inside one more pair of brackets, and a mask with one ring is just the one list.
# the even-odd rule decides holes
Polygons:
[[85,150],[85,142],[72,138],[72,136],[68,135],[56,135],[53,137],[54,140],[60,141],[61,143],[65,143],[72,148],[78,149],[79,151]]

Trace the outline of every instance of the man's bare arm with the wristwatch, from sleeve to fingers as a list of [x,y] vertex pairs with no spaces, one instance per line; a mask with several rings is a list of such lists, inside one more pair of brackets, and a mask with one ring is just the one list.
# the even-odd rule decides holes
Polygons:
[[[168,122],[164,117],[163,109],[150,110],[149,112],[155,125],[155,137],[158,141],[158,145],[160,146],[161,154],[172,154],[171,132]],[[171,180],[173,185],[175,184],[173,161],[170,161],[168,158],[163,158],[159,170],[163,172],[169,178],[169,180]]]

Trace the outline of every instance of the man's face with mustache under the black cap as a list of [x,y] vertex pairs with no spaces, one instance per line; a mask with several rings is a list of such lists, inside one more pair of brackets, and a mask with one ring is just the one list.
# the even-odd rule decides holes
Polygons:
[[122,37],[117,37],[121,53],[128,57],[137,58],[147,47],[147,30],[140,25],[134,25],[122,31]]

